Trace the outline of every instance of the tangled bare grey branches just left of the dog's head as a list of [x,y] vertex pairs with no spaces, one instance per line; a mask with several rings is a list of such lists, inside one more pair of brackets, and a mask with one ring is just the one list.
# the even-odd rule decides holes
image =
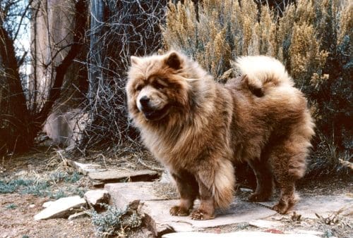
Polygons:
[[[160,25],[167,1],[107,1],[104,16],[92,12],[96,24],[88,32],[90,93],[88,111],[92,125],[86,128],[86,148],[121,146],[136,139],[125,105],[126,70],[131,55],[145,55],[161,47]],[[97,51],[97,49],[99,49]]]

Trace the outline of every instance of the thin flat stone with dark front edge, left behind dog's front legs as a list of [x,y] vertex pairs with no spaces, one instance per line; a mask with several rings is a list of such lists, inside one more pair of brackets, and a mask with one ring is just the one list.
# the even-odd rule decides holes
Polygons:
[[106,170],[100,172],[90,172],[88,177],[91,180],[109,183],[109,182],[138,182],[138,181],[153,181],[160,175],[153,170]]

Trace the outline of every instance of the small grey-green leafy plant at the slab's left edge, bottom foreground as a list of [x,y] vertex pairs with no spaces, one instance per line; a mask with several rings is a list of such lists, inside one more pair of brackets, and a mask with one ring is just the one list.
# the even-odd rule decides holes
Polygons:
[[97,213],[90,211],[92,224],[95,226],[95,232],[98,237],[109,237],[125,230],[131,230],[140,227],[142,220],[140,215],[131,209],[121,210],[114,206],[102,204],[107,211]]

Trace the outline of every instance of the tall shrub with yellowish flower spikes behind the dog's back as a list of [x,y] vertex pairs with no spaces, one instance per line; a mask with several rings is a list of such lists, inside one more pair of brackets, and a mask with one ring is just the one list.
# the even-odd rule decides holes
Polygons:
[[299,0],[279,14],[258,2],[169,2],[162,25],[164,49],[184,51],[215,80],[237,56],[263,54],[282,61],[308,96],[316,119],[311,175],[341,171],[338,158],[349,160],[353,150],[353,4]]

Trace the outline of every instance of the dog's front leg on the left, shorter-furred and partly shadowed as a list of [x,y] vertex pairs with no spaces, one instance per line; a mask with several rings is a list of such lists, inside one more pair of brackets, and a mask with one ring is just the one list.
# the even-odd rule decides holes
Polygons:
[[193,201],[198,196],[198,182],[191,173],[180,171],[179,173],[172,173],[177,188],[180,194],[179,206],[170,208],[171,215],[186,216],[190,214],[193,208]]

